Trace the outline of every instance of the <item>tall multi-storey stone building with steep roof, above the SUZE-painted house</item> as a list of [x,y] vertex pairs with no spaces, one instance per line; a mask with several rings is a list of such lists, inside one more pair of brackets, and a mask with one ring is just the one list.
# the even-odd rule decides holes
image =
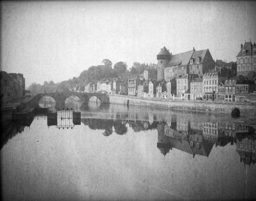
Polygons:
[[256,74],[256,44],[245,42],[236,56],[237,75],[252,78]]

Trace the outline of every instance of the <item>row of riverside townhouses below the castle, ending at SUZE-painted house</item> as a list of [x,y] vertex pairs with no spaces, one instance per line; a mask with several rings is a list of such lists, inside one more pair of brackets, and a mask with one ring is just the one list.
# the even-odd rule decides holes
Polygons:
[[155,98],[174,98],[207,101],[254,101],[255,83],[247,77],[230,77],[225,67],[210,70],[203,77],[186,74],[168,81],[154,79],[128,80],[128,95]]

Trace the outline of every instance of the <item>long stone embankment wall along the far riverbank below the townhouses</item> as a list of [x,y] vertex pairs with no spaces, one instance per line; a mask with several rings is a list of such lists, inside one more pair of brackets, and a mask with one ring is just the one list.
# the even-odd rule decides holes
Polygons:
[[256,117],[256,103],[250,102],[206,102],[203,100],[173,100],[113,94],[108,94],[108,96],[109,101],[112,104],[127,105],[127,101],[129,100],[129,105],[154,106],[204,112],[208,111],[225,114],[231,114],[233,109],[237,108],[243,116]]

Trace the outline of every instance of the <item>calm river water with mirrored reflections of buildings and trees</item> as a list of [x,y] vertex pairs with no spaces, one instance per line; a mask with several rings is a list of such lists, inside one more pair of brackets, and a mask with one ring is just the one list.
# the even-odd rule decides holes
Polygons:
[[111,104],[91,104],[81,119],[54,117],[11,123],[1,148],[4,200],[256,198],[248,120]]

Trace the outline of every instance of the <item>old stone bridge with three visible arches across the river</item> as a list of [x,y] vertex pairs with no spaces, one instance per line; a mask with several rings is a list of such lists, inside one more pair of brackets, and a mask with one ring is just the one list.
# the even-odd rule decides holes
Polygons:
[[82,106],[86,106],[89,103],[89,99],[93,96],[96,96],[100,101],[101,104],[109,104],[109,96],[105,93],[79,93],[79,92],[56,92],[56,93],[38,93],[34,97],[32,97],[27,102],[21,104],[18,109],[25,109],[25,108],[36,108],[39,107],[39,100],[44,96],[50,96],[55,100],[55,108],[62,109],[65,108],[65,101],[69,96],[77,96],[82,102]]

